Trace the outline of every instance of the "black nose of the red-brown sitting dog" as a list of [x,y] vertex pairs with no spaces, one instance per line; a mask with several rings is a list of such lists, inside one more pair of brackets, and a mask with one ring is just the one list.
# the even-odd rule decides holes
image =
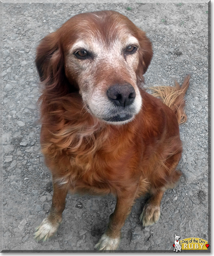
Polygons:
[[115,84],[107,90],[108,98],[117,106],[126,107],[135,99],[135,90],[131,84]]

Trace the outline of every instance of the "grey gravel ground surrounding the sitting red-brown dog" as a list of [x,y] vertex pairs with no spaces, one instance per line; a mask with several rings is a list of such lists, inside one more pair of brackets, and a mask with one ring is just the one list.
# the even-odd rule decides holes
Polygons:
[[63,222],[46,242],[35,228],[51,205],[51,175],[40,153],[34,65],[40,39],[82,12],[115,10],[147,32],[154,56],[145,87],[173,85],[191,73],[186,94],[188,121],[180,127],[180,183],[165,193],[159,221],[139,222],[137,200],[122,229],[119,250],[174,249],[181,239],[208,240],[208,3],[3,3],[3,241],[2,250],[93,250],[104,232],[115,198],[68,195]]

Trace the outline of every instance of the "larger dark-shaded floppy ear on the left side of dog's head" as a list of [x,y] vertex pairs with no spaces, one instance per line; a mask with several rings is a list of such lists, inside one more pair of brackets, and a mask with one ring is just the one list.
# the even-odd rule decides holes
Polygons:
[[36,67],[46,92],[57,96],[68,93],[65,76],[64,55],[59,43],[59,35],[53,32],[41,40],[37,48]]

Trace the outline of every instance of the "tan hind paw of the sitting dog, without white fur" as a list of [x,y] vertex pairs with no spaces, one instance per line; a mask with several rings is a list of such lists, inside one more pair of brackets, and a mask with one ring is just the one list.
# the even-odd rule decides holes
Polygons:
[[140,215],[140,220],[143,223],[143,226],[153,225],[158,221],[160,217],[160,207],[154,206],[149,202],[144,206],[143,212]]

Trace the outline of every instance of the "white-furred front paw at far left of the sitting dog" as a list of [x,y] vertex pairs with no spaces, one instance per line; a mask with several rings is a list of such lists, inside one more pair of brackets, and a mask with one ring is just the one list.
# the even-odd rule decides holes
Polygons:
[[52,224],[48,218],[43,219],[39,227],[36,228],[36,232],[34,234],[34,239],[37,241],[43,240],[46,241],[50,237],[52,237],[59,227],[60,223]]

